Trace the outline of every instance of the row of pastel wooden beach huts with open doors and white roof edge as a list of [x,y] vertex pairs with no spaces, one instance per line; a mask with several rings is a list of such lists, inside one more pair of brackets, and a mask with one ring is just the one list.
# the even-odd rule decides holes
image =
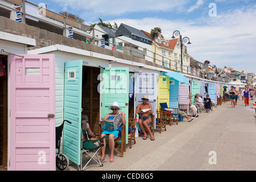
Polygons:
[[0,77],[0,86],[6,88],[1,96],[7,130],[2,160],[9,170],[55,170],[55,127],[64,119],[72,124],[64,126],[61,151],[80,165],[81,114],[88,115],[90,127],[98,133],[98,121],[110,112],[108,106],[114,101],[127,113],[128,121],[135,117],[144,95],[155,113],[161,102],[168,107],[188,105],[189,93],[194,96],[192,102],[196,93],[203,98],[208,93],[217,103],[224,86],[225,92],[230,88],[226,83],[183,74],[189,82],[185,84],[166,76],[171,72],[167,69],[85,49],[56,44],[27,51],[24,44],[35,46],[30,38],[22,37],[18,43],[0,41],[6,70]]

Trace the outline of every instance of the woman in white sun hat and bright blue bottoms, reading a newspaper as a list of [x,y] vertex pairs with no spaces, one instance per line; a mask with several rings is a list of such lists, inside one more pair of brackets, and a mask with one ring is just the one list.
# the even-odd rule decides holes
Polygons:
[[[109,110],[112,110],[112,113],[107,114],[104,119],[114,119],[115,116],[117,115],[118,117],[121,117],[122,125],[126,124],[125,113],[118,111],[118,110],[122,110],[118,106],[118,102],[113,102],[113,104],[109,106]],[[102,121],[99,122],[100,125],[101,123]],[[101,138],[104,137],[105,135],[109,135],[108,138],[109,138],[109,148],[110,148],[110,163],[114,162],[114,145],[115,145],[114,140],[118,137],[118,134],[119,134],[119,131],[121,131],[122,125],[119,126],[118,130],[103,130],[101,133]],[[106,138],[104,139],[104,147],[102,147],[101,150],[102,150],[102,155],[100,158],[100,162],[105,160]]]

